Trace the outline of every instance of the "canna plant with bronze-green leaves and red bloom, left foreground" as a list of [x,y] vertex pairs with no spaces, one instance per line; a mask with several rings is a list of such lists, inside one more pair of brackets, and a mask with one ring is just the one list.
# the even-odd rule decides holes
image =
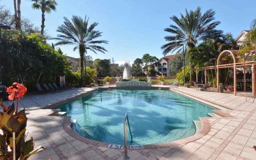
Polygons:
[[[0,129],[3,133],[0,134],[0,160],[27,160],[32,154],[46,149],[42,146],[34,149],[32,137],[30,140],[25,141],[28,118],[26,117],[25,109],[18,112],[18,104],[26,91],[27,88],[23,84],[13,83],[13,86],[7,87],[6,90],[10,94],[8,96],[9,100],[13,100],[12,104],[7,108],[2,100],[0,101],[0,106],[4,108],[4,111],[0,112]],[[15,100],[16,110],[14,106]]]

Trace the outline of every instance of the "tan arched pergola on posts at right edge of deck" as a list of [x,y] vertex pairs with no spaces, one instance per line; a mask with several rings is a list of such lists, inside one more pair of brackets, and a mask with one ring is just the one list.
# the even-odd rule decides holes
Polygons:
[[[220,84],[220,68],[233,68],[234,70],[234,95],[236,96],[236,70],[239,69],[244,73],[244,92],[246,92],[246,67],[249,67],[252,70],[252,95],[256,96],[256,62],[252,60],[252,55],[256,54],[256,50],[248,50],[244,54],[244,58],[238,58],[240,50],[224,50],[220,53],[217,60],[216,66],[204,67],[204,80],[207,82],[207,70],[217,69],[217,89],[219,92]],[[239,60],[240,59],[240,60]],[[196,81],[198,82],[198,69],[196,69]]]

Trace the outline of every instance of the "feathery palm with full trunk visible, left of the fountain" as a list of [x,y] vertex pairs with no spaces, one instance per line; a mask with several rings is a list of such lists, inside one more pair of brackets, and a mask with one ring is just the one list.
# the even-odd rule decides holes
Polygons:
[[94,22],[89,26],[88,19],[86,16],[84,20],[81,17],[73,16],[72,22],[68,18],[64,17],[64,24],[58,26],[57,32],[61,34],[57,35],[57,38],[52,38],[58,40],[56,45],[75,45],[74,51],[79,49],[80,54],[80,65],[81,65],[81,82],[80,85],[84,83],[84,53],[87,54],[87,50],[91,50],[95,54],[96,51],[100,51],[105,54],[108,52],[104,47],[98,46],[96,44],[108,44],[106,40],[95,40],[96,38],[102,36],[102,32],[94,30],[98,23]]

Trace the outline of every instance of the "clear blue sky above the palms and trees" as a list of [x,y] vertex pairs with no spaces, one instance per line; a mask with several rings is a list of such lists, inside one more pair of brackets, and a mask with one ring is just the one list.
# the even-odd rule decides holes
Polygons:
[[[175,15],[180,18],[180,13],[185,15],[185,10],[196,10],[201,7],[202,13],[213,9],[215,20],[220,21],[217,29],[224,33],[230,32],[234,38],[242,30],[250,30],[250,22],[256,18],[256,1],[252,0],[56,0],[56,11],[45,16],[45,30],[56,37],[56,29],[63,24],[63,17],[71,19],[73,15],[84,18],[90,17],[89,24],[98,22],[96,30],[102,32],[101,40],[108,40],[108,44],[102,44],[108,52],[94,54],[88,52],[93,60],[114,58],[114,62],[134,62],[136,58],[142,58],[144,54],[162,58],[161,46],[167,42],[164,36],[164,28],[174,24],[170,17]],[[13,0],[0,0],[14,12]],[[21,1],[21,15],[29,18],[36,26],[41,25],[41,10],[32,9],[30,0]],[[41,29],[41,28],[40,28]],[[54,41],[48,41],[48,43]],[[60,47],[64,54],[79,58],[78,50],[73,51],[74,46]],[[168,55],[175,54],[170,53]]]

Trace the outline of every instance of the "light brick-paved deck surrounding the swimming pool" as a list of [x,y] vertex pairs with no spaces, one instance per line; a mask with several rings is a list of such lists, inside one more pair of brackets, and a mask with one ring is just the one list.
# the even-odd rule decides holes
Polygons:
[[[154,85],[153,85],[154,86]],[[160,86],[168,87],[168,86]],[[24,96],[19,108],[25,108],[28,117],[28,138],[35,147],[46,150],[30,156],[29,160],[123,160],[124,149],[108,148],[108,144],[88,140],[74,132],[70,117],[48,116],[56,110],[42,109],[77,98],[94,89],[73,88],[62,92],[51,92]],[[172,88],[175,92],[206,104],[224,107],[216,114],[224,117],[205,117],[202,130],[183,140],[164,144],[144,145],[145,149],[128,149],[130,160],[255,160],[256,151],[256,102],[246,102],[245,96],[232,93],[200,91],[194,88]],[[9,105],[11,101],[4,101]],[[228,109],[232,110],[228,110]]]

